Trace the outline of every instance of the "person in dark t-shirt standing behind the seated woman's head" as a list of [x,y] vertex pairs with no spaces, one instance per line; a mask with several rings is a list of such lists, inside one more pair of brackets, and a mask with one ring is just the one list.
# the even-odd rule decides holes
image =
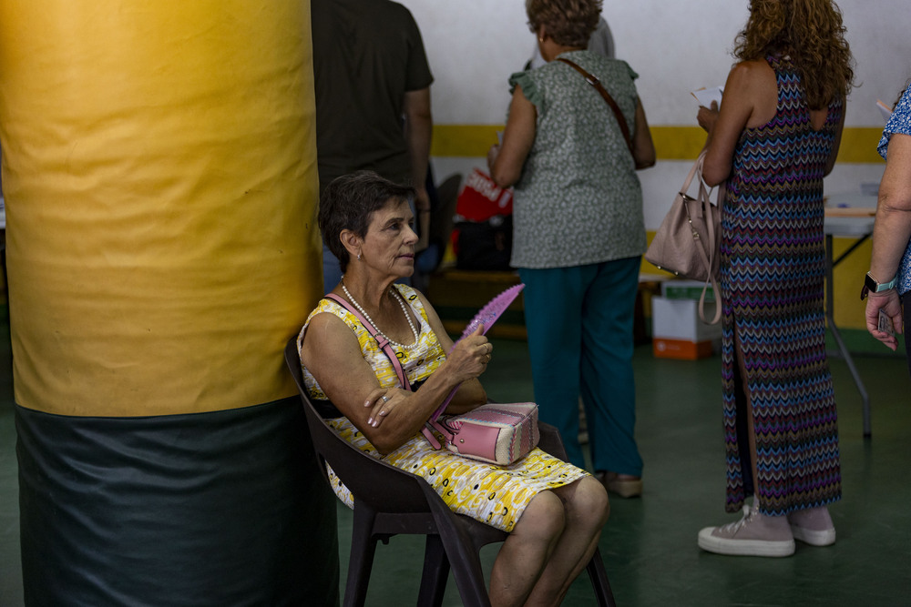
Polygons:
[[[414,17],[390,0],[312,0],[311,10],[320,193],[335,177],[373,170],[415,188],[424,228],[434,78]],[[324,245],[322,255],[329,292],[341,269]]]

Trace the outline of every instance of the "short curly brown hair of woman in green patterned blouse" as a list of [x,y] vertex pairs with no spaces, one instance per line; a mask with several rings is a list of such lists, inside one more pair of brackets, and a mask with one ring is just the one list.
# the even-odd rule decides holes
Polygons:
[[598,27],[601,0],[526,0],[525,12],[533,34],[544,25],[558,45],[585,48]]

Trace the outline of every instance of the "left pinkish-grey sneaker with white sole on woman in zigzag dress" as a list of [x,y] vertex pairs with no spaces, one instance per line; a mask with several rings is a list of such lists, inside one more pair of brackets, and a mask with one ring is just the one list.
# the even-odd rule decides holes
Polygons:
[[785,517],[763,516],[744,505],[740,521],[700,531],[699,547],[717,554],[780,557],[794,553],[794,539]]

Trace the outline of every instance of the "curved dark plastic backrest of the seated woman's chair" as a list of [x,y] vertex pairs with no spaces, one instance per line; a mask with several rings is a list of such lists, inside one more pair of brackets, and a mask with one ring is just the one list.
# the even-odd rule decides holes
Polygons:
[[301,395],[307,426],[321,463],[323,477],[326,477],[325,462],[328,461],[355,498],[366,502],[374,511],[431,512],[422,487],[422,484],[426,485],[424,479],[363,453],[339,436],[322,419],[313,407],[303,383],[296,338],[289,340],[285,346],[285,363]]

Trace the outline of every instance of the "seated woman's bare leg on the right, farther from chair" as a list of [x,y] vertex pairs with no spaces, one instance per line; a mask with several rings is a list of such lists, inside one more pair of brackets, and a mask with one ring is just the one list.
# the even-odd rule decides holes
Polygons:
[[527,605],[558,605],[563,601],[569,585],[589,564],[598,548],[601,528],[608,521],[607,491],[593,477],[553,491],[566,509],[566,526]]

